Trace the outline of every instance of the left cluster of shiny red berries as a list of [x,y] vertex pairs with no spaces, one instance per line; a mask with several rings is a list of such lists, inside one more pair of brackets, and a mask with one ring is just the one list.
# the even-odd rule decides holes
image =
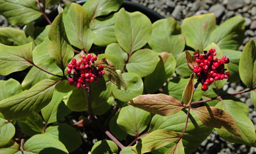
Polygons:
[[104,67],[94,63],[97,60],[97,56],[92,54],[82,55],[82,60],[77,62],[76,59],[72,59],[71,64],[68,64],[68,83],[74,85],[77,88],[84,88],[89,90],[86,84],[95,81],[98,82],[98,78],[102,78],[105,74]]

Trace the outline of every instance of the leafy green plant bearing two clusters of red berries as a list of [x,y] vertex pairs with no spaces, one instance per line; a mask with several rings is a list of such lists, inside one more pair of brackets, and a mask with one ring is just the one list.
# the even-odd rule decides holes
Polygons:
[[[122,0],[88,0],[59,6],[52,21],[45,10],[58,1],[0,0],[23,28],[0,28],[1,154],[190,154],[214,130],[256,146],[249,108],[234,97],[250,92],[256,105],[255,41],[237,51],[242,17],[152,24]],[[240,80],[248,90],[222,89]]]

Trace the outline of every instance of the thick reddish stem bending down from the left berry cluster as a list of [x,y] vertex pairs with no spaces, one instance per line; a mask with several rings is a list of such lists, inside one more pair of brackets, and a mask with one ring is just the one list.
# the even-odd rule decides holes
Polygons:
[[109,131],[105,130],[104,126],[100,123],[98,118],[94,115],[93,110],[92,110],[92,84],[89,84],[89,94],[88,94],[88,102],[87,102],[87,107],[88,107],[88,120],[89,121],[94,121],[96,125],[112,140],[118,145],[121,149],[125,148],[122,143],[120,143]]

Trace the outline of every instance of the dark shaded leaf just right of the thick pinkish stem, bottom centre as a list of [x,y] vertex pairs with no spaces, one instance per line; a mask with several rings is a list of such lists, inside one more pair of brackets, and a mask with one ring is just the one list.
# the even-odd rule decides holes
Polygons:
[[110,132],[118,139],[118,140],[124,140],[126,136],[128,135],[124,130],[122,130],[118,124],[116,123],[116,120],[118,118],[118,115],[112,116],[109,122],[109,129]]

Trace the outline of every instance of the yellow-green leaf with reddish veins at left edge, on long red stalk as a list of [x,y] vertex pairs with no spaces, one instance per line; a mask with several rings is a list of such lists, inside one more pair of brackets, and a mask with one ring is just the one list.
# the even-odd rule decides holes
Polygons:
[[0,44],[0,74],[8,75],[12,72],[25,70],[31,66],[32,42],[21,46],[6,46]]

